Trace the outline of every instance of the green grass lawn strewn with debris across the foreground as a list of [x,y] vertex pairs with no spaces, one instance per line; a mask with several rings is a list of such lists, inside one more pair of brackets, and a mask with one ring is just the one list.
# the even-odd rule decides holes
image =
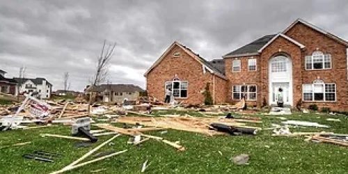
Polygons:
[[[263,123],[254,125],[260,127],[266,128],[270,127],[271,123],[281,122],[276,116],[259,116]],[[291,129],[292,132],[326,131],[348,134],[348,120],[345,116],[299,113],[283,117],[330,126],[329,129],[296,128]],[[341,122],[326,121],[326,118],[339,118]],[[0,147],[25,141],[32,142],[29,145],[0,149],[0,173],[49,173],[67,166],[97,146],[74,148],[73,143],[77,141],[40,137],[41,133],[69,135],[70,127],[56,126],[0,132]],[[141,167],[146,160],[150,166],[145,173],[347,173],[348,171],[348,147],[308,143],[303,141],[303,137],[270,136],[271,131],[258,133],[255,136],[205,136],[175,130],[168,130],[166,134],[148,133],[162,136],[169,141],[180,141],[180,144],[187,149],[184,152],[177,152],[175,148],[154,140],[146,141],[140,147],[134,147],[127,144],[128,136],[119,136],[113,140],[114,145],[106,145],[98,152],[125,149],[127,152],[68,173],[91,173],[101,168],[104,171],[99,173],[141,173]],[[111,136],[102,136],[97,144],[109,138]],[[63,157],[56,159],[53,164],[22,157],[33,150],[60,153]],[[251,155],[249,164],[246,166],[232,164],[230,157],[241,154]]]

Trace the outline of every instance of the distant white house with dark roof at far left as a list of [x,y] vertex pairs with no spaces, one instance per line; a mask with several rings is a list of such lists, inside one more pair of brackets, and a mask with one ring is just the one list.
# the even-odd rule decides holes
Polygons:
[[[35,79],[28,78],[13,78],[19,84],[19,94],[22,93],[38,93],[41,99],[47,99],[51,97],[52,94],[52,84],[49,83],[45,78],[38,77]],[[17,90],[16,90],[17,95]]]

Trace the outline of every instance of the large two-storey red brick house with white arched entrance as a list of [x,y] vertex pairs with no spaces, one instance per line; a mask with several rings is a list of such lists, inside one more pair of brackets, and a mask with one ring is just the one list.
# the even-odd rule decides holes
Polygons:
[[[145,72],[149,96],[164,100],[171,88],[175,100],[203,104],[208,83],[214,103],[348,109],[348,42],[296,19],[284,31],[265,35],[223,56],[205,61],[178,42]],[[224,67],[224,70],[223,68]]]

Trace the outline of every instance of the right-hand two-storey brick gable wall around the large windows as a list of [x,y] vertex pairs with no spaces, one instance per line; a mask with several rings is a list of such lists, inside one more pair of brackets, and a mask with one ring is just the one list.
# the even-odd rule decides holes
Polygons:
[[[347,103],[347,48],[345,45],[319,33],[310,27],[297,23],[286,35],[306,45],[301,58],[301,74],[303,84],[312,84],[317,77],[324,80],[324,83],[336,84],[337,102],[306,102],[304,106],[317,104],[321,107],[331,107],[333,110],[348,110]],[[312,55],[316,50],[324,54],[331,54],[331,70],[306,70],[305,56]]]

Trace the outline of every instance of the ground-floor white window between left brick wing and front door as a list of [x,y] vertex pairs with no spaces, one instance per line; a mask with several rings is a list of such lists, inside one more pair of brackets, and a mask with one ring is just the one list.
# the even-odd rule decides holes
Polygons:
[[257,89],[255,85],[233,86],[232,90],[233,100],[256,100]]

